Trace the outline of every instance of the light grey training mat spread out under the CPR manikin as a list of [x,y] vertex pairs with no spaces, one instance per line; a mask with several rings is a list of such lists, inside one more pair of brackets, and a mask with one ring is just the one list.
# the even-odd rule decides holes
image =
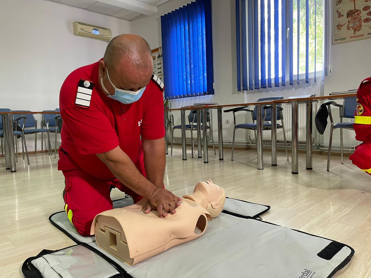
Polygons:
[[[128,205],[131,199],[118,202],[122,202],[119,205]],[[93,237],[89,238],[90,242],[77,246],[88,248],[89,251],[95,250],[115,266],[116,270],[106,266],[107,272],[124,273],[122,276],[115,274],[116,276],[102,275],[102,277],[134,278],[164,276],[324,278],[332,277],[354,254],[354,250],[348,245],[254,219],[253,217],[269,209],[269,206],[257,205],[260,206],[259,214],[255,205],[257,204],[228,198],[223,213],[208,222],[202,236],[174,246],[133,266],[99,248]],[[251,213],[248,213],[250,210],[248,207],[251,208]],[[66,213],[63,214],[70,224]],[[53,222],[63,219],[59,216],[62,214],[54,214],[50,220]],[[58,228],[68,226],[67,223],[60,222],[53,224]],[[65,233],[73,238],[71,230]],[[76,238],[74,240],[79,242]],[[83,240],[86,241],[85,238]],[[35,258],[32,258],[32,261],[35,261]],[[52,264],[45,258],[38,262],[45,273],[46,269],[52,268]],[[76,263],[84,267],[83,263]]]

